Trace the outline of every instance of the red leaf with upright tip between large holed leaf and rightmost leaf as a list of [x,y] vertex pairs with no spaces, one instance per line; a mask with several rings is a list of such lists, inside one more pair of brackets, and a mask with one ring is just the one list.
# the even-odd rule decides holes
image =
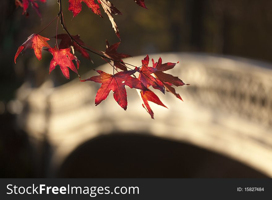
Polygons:
[[140,73],[138,79],[144,84],[145,87],[152,86],[154,89],[158,89],[164,93],[163,83],[159,79],[156,79],[154,76],[151,75],[155,73],[157,69],[149,67],[148,63],[149,56],[147,55],[147,57],[142,60],[142,67],[135,67],[135,70]]

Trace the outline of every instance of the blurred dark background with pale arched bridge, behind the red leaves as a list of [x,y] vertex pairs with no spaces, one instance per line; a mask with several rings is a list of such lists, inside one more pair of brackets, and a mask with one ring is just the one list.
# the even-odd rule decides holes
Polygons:
[[[72,18],[68,0],[62,3],[69,32],[85,44],[104,50],[106,39],[119,41],[104,12],[102,19],[82,3]],[[114,16],[118,51],[136,65],[146,54],[180,61],[172,74],[191,84],[177,89],[185,102],[167,94],[162,99],[171,108],[154,107],[152,121],[137,93],[129,97],[131,111],[121,113],[111,94],[95,107],[98,85],[79,86],[73,72],[76,80],[66,80],[59,67],[49,75],[49,52],[38,61],[29,49],[15,64],[17,48],[59,7],[57,0],[39,2],[40,19],[31,6],[25,17],[13,0],[1,1],[0,176],[272,177],[272,1],[146,0],[148,10],[131,0],[112,3],[123,14]],[[56,21],[40,35],[55,31]],[[94,64],[77,56],[83,79],[104,64],[91,53]]]

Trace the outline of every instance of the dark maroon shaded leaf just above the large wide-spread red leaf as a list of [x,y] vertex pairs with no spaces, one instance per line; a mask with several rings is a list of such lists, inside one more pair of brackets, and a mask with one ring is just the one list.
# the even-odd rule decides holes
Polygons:
[[106,40],[106,50],[105,52],[103,52],[103,54],[106,56],[106,57],[109,57],[109,58],[112,58],[113,60],[115,61],[119,61],[119,62],[113,62],[113,65],[116,66],[117,68],[123,70],[123,71],[126,71],[127,68],[125,66],[124,63],[121,63],[123,62],[122,58],[126,58],[126,57],[131,57],[130,55],[128,54],[125,54],[125,53],[118,53],[117,52],[117,49],[119,47],[121,42],[117,42],[113,45],[109,45],[108,43],[108,40]]

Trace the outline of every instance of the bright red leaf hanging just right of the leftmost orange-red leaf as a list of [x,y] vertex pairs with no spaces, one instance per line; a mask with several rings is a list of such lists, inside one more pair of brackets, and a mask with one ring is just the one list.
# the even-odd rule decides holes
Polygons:
[[[57,65],[60,66],[62,70],[62,74],[66,77],[66,79],[70,79],[69,69],[68,67],[73,70],[75,73],[79,74],[77,69],[74,66],[72,60],[78,60],[72,53],[70,53],[70,48],[67,49],[58,49],[56,46],[55,48],[45,49],[49,51],[53,58],[50,62],[49,74],[52,70],[55,69]],[[79,77],[80,79],[80,77]]]

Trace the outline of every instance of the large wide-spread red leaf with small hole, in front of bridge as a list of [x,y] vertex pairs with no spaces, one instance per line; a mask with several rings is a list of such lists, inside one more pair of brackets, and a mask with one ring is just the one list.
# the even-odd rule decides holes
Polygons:
[[108,74],[101,70],[95,70],[100,75],[93,76],[89,79],[81,80],[81,81],[94,81],[96,83],[102,83],[101,87],[98,89],[96,93],[95,104],[96,106],[101,103],[101,101],[105,100],[108,97],[109,92],[113,91],[113,97],[116,102],[123,108],[127,109],[127,94],[125,90],[125,85],[130,88],[136,88],[140,90],[148,90],[141,81],[136,78],[131,77],[134,74],[135,70],[129,71],[121,71],[114,75]]

